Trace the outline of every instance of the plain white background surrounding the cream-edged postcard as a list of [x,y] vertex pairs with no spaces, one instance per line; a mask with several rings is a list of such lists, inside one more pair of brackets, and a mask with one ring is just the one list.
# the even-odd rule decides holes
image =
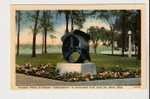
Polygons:
[[[31,1],[31,0],[24,0]],[[34,0],[35,1],[35,0]],[[41,0],[46,1],[46,0]],[[39,0],[39,2],[41,2]],[[52,0],[49,0],[52,1]],[[56,0],[53,0],[53,2]],[[57,0],[58,1],[58,0]],[[63,2],[62,0],[61,2]],[[78,0],[79,1],[79,0]],[[89,0],[88,0],[89,1]],[[91,0],[95,1],[95,0]],[[100,1],[100,0],[97,0]],[[104,1],[104,0],[103,0]],[[122,1],[122,0],[120,0]],[[132,0],[130,0],[132,1]],[[10,3],[21,3],[21,0],[0,0],[0,99],[148,99],[149,89],[143,90],[22,90],[12,91],[10,89]],[[70,1],[72,2],[72,1]],[[22,0],[23,3],[23,0]],[[27,3],[27,2],[26,2]],[[28,3],[33,3],[28,2]],[[98,2],[99,3],[99,2]],[[136,2],[137,3],[137,2]],[[146,66],[149,68],[149,3],[146,3],[146,35],[145,46],[147,46]],[[149,72],[149,69],[147,69]],[[147,73],[148,73],[147,72]],[[149,74],[147,74],[149,75]],[[148,76],[147,76],[147,79]],[[148,80],[147,80],[148,81]]]

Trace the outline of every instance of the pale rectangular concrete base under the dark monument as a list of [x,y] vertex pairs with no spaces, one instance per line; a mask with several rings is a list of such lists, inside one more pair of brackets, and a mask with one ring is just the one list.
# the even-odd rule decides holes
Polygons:
[[96,66],[94,63],[58,63],[57,69],[60,74],[69,72],[78,72],[83,75],[90,73],[92,75],[96,74]]

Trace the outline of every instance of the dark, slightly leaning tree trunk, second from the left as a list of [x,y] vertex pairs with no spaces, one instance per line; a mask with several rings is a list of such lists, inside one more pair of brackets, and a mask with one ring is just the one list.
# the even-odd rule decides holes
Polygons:
[[38,17],[39,17],[39,11],[36,11],[35,24],[33,30],[32,57],[36,57],[36,34],[37,34]]

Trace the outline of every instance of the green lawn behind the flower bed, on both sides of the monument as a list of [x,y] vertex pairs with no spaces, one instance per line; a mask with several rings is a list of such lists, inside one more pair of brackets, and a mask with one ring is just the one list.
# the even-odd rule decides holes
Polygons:
[[[140,61],[138,61],[135,57],[128,58],[122,56],[111,56],[111,55],[102,55],[102,54],[91,54],[92,62],[96,64],[98,67],[111,68],[115,66],[127,68],[127,69],[139,69]],[[20,55],[16,57],[16,64],[25,64],[30,63],[33,66],[39,64],[54,64],[60,62],[66,62],[63,59],[61,54],[46,54],[46,55],[37,55],[35,58],[32,58],[31,55]]]

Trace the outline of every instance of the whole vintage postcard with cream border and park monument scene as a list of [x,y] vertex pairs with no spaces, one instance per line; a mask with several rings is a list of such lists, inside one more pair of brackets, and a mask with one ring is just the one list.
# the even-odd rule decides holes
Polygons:
[[11,86],[145,88],[145,9],[136,5],[11,5]]

